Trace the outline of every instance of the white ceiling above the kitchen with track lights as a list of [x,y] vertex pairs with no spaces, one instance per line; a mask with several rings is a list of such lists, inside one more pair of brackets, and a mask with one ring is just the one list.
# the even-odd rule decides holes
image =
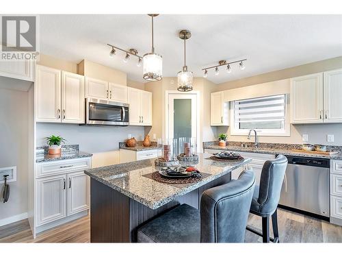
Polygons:
[[[189,29],[187,65],[194,76],[219,60],[247,58],[246,69],[237,64],[228,74],[209,71],[214,83],[250,77],[308,62],[342,56],[342,15],[159,15],[155,18],[155,51],[163,56],[163,76],[174,77],[183,66],[181,29]],[[150,51],[147,15],[41,15],[40,51],[79,62],[88,59],[145,82],[135,58],[122,62],[123,53],[109,58],[107,43]],[[134,60],[134,61],[133,61]]]

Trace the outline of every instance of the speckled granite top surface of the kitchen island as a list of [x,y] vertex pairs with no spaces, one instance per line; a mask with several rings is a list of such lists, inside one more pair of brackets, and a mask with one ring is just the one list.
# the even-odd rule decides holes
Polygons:
[[243,167],[251,161],[251,159],[245,159],[240,162],[218,162],[208,160],[209,157],[210,154],[199,154],[196,168],[210,175],[194,184],[184,184],[182,187],[157,182],[143,176],[156,171],[155,159],[88,169],[85,173],[90,178],[114,188],[127,197],[131,197],[149,208],[157,209],[181,195],[194,191],[194,189],[230,173],[238,167]]

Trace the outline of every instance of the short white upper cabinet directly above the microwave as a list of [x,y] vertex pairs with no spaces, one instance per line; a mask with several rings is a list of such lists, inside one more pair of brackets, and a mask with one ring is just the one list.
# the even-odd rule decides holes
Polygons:
[[86,77],[86,97],[127,103],[127,86]]

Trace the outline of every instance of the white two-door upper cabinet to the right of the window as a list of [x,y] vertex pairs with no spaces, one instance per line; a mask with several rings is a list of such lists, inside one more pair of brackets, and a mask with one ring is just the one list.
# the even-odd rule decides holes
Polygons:
[[291,79],[291,123],[342,123],[342,69]]

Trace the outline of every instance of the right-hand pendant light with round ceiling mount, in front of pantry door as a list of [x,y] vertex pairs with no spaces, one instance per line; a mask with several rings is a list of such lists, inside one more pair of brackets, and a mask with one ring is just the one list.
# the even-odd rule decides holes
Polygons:
[[192,71],[187,70],[186,65],[186,49],[185,49],[185,40],[191,38],[192,34],[189,30],[183,29],[179,32],[179,38],[184,40],[184,66],[182,71],[179,71],[177,74],[178,77],[178,88],[179,91],[191,91],[192,90],[192,82],[193,82],[193,75]]

